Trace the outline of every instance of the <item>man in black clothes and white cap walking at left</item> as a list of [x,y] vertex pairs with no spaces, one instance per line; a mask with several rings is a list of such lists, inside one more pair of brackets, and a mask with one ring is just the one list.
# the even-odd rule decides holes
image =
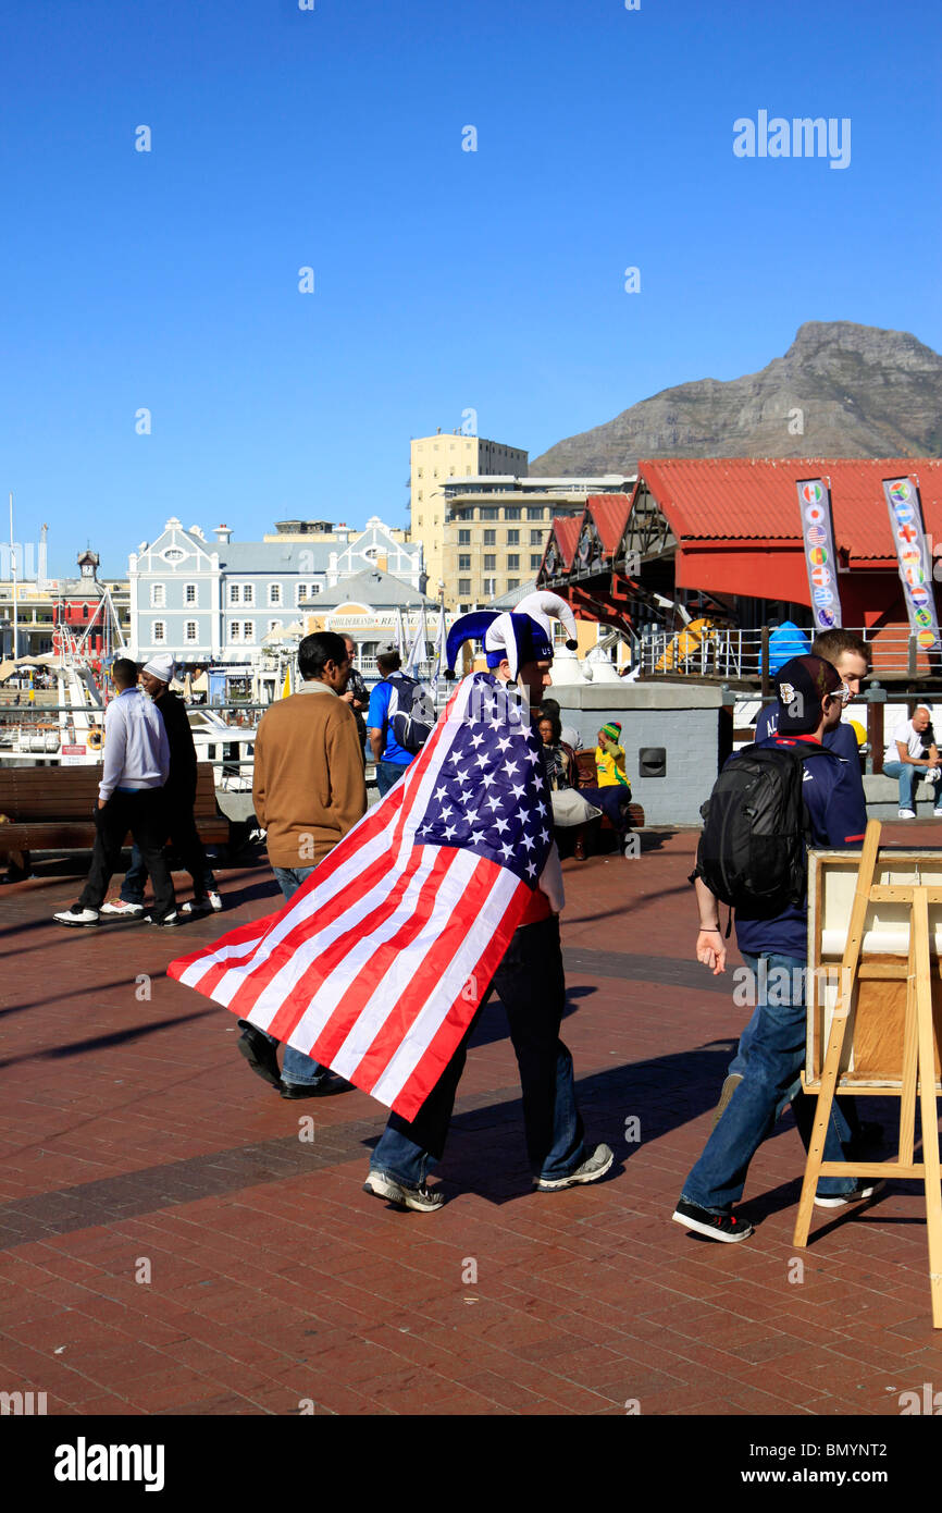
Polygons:
[[[189,726],[186,705],[178,694],[171,693],[174,658],[160,654],[153,657],[139,675],[141,687],[160,713],[169,744],[169,778],[165,785],[166,826],[172,850],[180,858],[183,870],[194,881],[194,900],[180,908],[180,914],[207,914],[219,911],[222,899],[206,850],[197,831],[194,803],[197,799],[197,749]],[[116,918],[139,918],[144,914],[144,884],[147,868],[141,847],[135,843],[132,864],[121,884],[121,896],[113,903],[103,903],[101,914]]]

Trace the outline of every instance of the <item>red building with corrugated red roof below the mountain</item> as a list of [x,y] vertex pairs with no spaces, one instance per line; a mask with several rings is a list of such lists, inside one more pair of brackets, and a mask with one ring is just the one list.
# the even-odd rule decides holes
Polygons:
[[544,561],[538,581],[576,613],[632,631],[652,620],[680,629],[685,614],[742,631],[783,619],[810,626],[797,484],[824,478],[842,623],[871,632],[878,667],[880,632],[895,646],[909,632],[882,487],[903,475],[919,484],[930,552],[939,542],[942,555],[940,460],[653,458],[638,463],[631,496],[587,501],[572,566]]

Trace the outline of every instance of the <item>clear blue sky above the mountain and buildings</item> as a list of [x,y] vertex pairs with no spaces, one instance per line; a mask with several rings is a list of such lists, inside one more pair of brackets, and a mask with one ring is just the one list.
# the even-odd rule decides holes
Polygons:
[[[17,537],[121,575],[169,514],[405,523],[469,407],[535,457],[807,319],[942,350],[940,51],[924,0],[6,6]],[[850,117],[850,166],[736,159],[761,109]]]

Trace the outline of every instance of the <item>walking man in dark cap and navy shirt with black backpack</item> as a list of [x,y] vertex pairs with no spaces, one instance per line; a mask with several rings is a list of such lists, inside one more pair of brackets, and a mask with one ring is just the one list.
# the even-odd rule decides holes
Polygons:
[[[812,844],[859,846],[866,829],[859,778],[848,763],[823,744],[823,737],[838,725],[844,708],[838,672],[820,657],[792,657],[776,681],[777,735],[761,746],[792,747],[803,753],[801,796]],[[729,764],[738,760],[733,755]],[[718,902],[699,875],[696,888],[700,914],[697,961],[717,976],[726,970]],[[773,915],[759,906],[738,908],[736,943],[758,990],[756,1027],[742,1079],[688,1174],[673,1213],[685,1229],[727,1244],[748,1239],[753,1233],[751,1224],[733,1213],[733,1204],[742,1197],[748,1163],[771,1133],[782,1103],[791,1098],[806,1150],[815,1117],[815,1100],[800,1092],[806,1038],[807,900],[788,903]],[[847,1160],[850,1154],[847,1126],[832,1112],[824,1159]],[[872,1182],[863,1185],[856,1177],[823,1177],[815,1203],[841,1207],[868,1198],[874,1191]]]

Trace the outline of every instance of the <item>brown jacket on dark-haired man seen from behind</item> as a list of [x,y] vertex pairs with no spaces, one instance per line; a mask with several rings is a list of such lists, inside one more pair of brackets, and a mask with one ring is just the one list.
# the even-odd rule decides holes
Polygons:
[[262,716],[253,799],[272,867],[324,861],[366,812],[354,711],[325,682],[305,682]]

